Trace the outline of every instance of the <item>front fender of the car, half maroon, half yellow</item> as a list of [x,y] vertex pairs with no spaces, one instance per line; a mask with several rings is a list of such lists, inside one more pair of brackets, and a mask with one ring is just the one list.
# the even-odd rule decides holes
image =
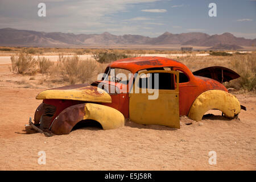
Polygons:
[[51,131],[54,134],[69,134],[80,121],[92,119],[101,124],[104,130],[117,129],[125,125],[123,114],[109,106],[100,104],[79,104],[70,106],[53,120]]

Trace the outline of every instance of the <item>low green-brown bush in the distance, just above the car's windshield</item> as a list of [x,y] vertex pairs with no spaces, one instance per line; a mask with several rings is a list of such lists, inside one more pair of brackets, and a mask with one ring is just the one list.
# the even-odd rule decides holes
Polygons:
[[128,56],[125,54],[119,53],[108,53],[108,52],[96,52],[93,53],[93,58],[98,63],[111,63],[112,61],[116,61],[118,59],[124,59]]

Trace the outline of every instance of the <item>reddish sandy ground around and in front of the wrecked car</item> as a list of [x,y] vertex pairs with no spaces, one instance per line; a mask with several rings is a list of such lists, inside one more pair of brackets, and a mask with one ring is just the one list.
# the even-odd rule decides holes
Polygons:
[[[201,122],[181,117],[181,128],[144,126],[127,121],[124,127],[101,130],[83,127],[69,135],[27,134],[24,124],[42,102],[36,94],[47,86],[24,86],[20,76],[0,65],[1,170],[255,170],[256,96],[236,94],[247,111],[226,119],[209,111]],[[16,81],[13,81],[15,80]],[[49,87],[49,85],[48,85]],[[191,125],[185,123],[192,122]],[[39,151],[46,164],[38,164]],[[210,165],[209,151],[217,164]]]

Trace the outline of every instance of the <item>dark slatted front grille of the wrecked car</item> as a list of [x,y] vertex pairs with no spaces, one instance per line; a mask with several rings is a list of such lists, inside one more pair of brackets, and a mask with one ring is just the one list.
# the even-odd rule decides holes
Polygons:
[[40,128],[49,129],[51,126],[52,117],[55,114],[56,107],[53,105],[45,104],[45,111],[40,119]]

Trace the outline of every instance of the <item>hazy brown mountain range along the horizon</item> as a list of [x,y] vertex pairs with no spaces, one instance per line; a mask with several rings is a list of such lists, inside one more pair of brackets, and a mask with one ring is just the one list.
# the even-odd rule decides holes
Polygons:
[[255,46],[256,39],[237,38],[233,34],[208,35],[201,32],[164,34],[150,38],[142,35],[71,34],[62,32],[39,32],[0,29],[0,46],[119,46],[119,45],[170,45],[214,47],[222,45]]

